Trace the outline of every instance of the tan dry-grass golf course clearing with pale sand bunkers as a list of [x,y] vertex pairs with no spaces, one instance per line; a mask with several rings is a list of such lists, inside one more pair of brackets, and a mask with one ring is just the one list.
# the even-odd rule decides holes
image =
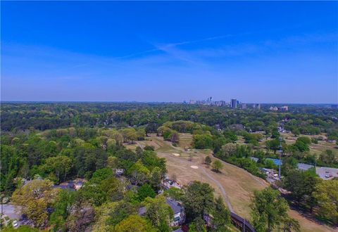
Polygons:
[[[185,141],[188,141],[189,136],[191,138],[191,135],[184,134]],[[261,190],[268,186],[268,183],[263,179],[223,161],[221,161],[223,162],[222,173],[212,172],[209,167],[204,165],[204,158],[206,155],[211,155],[211,150],[187,150],[184,149],[187,146],[182,146],[182,144],[175,147],[155,134],[152,134],[146,141],[137,141],[137,144],[132,145],[130,148],[144,147],[146,145],[154,146],[158,156],[165,157],[169,176],[175,174],[177,181],[183,185],[194,180],[209,183],[215,189],[215,195],[222,196],[230,210],[246,219],[250,219],[249,205],[253,191]],[[180,156],[175,156],[173,153],[180,154]],[[191,156],[192,161],[189,161]],[[212,160],[215,160],[215,158],[212,157]],[[192,166],[199,168],[193,169]],[[301,216],[294,210],[290,210],[289,214],[299,221],[301,231],[335,231],[333,228]]]

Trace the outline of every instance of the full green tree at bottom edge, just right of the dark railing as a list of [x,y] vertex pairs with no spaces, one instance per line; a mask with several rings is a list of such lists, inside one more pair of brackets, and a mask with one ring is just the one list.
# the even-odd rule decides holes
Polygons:
[[280,224],[280,219],[288,217],[288,210],[287,201],[273,188],[253,193],[251,217],[256,231],[272,231]]

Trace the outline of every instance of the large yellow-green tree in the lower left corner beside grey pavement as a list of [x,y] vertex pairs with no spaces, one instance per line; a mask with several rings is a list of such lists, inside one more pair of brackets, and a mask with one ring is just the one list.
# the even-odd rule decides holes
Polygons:
[[51,181],[32,180],[18,188],[12,195],[12,201],[22,207],[23,214],[37,227],[42,227],[48,219],[47,207],[53,202],[58,189],[51,188]]

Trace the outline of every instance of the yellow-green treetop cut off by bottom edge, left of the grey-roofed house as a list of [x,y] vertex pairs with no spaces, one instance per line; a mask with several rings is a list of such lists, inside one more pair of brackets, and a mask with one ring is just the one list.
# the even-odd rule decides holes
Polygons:
[[138,215],[130,215],[126,219],[123,219],[119,224],[115,226],[116,232],[155,232],[156,230],[149,224],[146,219],[139,217]]

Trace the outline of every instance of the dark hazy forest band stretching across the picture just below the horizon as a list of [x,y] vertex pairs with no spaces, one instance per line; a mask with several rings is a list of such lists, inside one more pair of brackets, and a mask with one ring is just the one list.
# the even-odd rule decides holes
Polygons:
[[302,112],[302,107],[293,112],[269,112],[168,103],[2,103],[1,130],[148,126],[148,131],[154,132],[165,122],[188,120],[221,129],[240,124],[246,131],[269,131],[287,119],[285,128],[295,134],[337,131],[337,110],[311,108]]

